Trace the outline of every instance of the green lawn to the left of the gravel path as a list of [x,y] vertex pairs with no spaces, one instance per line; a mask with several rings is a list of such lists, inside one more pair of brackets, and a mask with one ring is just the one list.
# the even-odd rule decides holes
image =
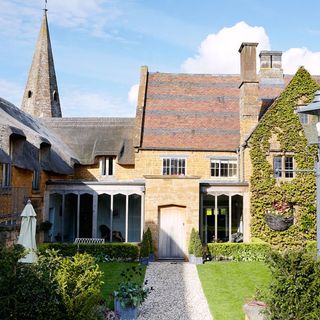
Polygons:
[[[103,286],[102,286],[102,296],[106,299],[108,307],[113,309],[113,291],[118,288],[118,285],[123,278],[121,277],[122,271],[125,273],[130,272],[130,269],[135,266],[139,267],[140,264],[137,262],[104,262],[99,263],[100,270],[103,271]],[[146,272],[146,267],[141,266],[142,274],[135,275],[133,277],[134,281],[140,282],[141,284],[144,281],[144,275]]]

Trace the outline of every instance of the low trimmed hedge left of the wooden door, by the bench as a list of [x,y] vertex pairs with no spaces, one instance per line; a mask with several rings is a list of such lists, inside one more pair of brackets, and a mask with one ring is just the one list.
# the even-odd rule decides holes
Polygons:
[[65,257],[79,253],[88,253],[92,256],[105,255],[111,260],[135,261],[139,257],[139,248],[132,243],[99,243],[99,244],[74,244],[74,243],[42,243],[38,250],[45,252],[47,249],[59,250]]

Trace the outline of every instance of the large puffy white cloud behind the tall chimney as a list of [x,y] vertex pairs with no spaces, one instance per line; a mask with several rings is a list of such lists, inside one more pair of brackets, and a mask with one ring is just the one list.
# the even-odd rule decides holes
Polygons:
[[182,70],[190,73],[239,73],[238,50],[242,42],[258,42],[258,50],[270,50],[264,28],[251,27],[241,21],[209,34],[201,43],[198,54],[182,64]]

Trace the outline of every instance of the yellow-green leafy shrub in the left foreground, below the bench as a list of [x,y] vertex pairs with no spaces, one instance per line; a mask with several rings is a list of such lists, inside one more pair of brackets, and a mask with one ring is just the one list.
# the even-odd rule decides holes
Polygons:
[[97,319],[102,272],[87,253],[64,258],[55,276],[68,319]]

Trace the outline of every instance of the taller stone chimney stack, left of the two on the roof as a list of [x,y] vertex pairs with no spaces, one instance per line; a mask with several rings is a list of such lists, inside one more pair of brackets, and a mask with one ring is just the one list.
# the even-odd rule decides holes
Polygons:
[[240,52],[240,143],[242,144],[258,123],[260,105],[257,77],[258,43],[244,42]]

